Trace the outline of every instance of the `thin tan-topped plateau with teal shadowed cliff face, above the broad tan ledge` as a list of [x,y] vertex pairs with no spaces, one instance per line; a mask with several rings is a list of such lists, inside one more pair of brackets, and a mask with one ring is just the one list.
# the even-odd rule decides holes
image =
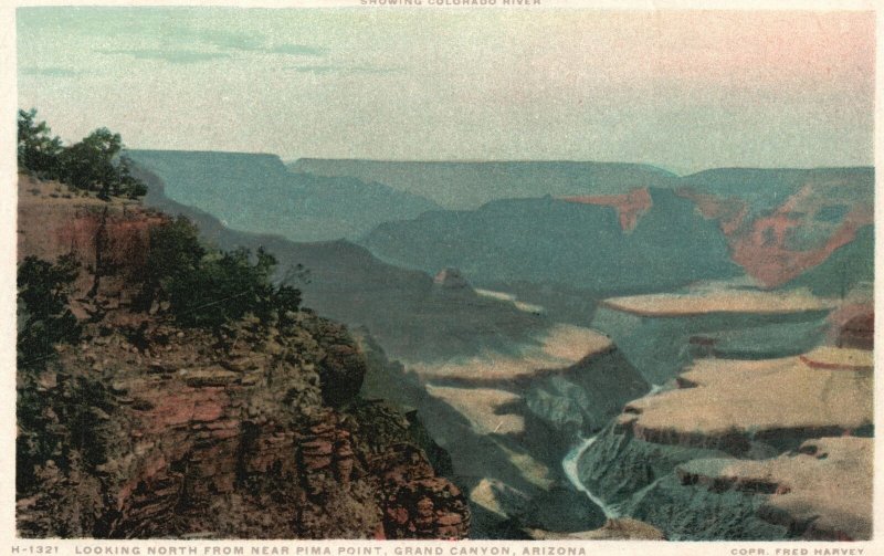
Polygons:
[[831,328],[833,305],[806,293],[698,287],[606,300],[592,327],[663,385],[704,357],[768,359],[812,349]]

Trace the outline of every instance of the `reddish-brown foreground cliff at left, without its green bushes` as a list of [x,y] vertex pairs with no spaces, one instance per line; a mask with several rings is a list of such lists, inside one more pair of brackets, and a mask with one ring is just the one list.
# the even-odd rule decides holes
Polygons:
[[[34,190],[35,192],[32,192]],[[81,344],[19,374],[23,536],[463,538],[419,422],[358,396],[366,360],[309,311],[221,331],[139,313],[158,212],[20,183],[19,256],[73,253]]]

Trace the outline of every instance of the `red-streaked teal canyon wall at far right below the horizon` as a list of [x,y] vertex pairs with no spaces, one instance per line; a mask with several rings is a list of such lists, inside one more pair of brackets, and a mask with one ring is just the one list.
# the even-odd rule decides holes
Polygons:
[[[851,259],[873,259],[871,241],[861,238],[874,221],[872,168],[723,168],[681,181],[678,193],[718,221],[734,261],[767,287],[792,281],[857,239]],[[862,277],[848,273],[849,285],[856,280],[871,280],[871,270]]]

